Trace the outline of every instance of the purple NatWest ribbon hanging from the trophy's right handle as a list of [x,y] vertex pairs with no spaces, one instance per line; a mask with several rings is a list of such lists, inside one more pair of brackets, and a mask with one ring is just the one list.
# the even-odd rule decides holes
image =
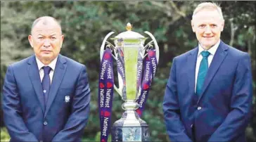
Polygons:
[[[139,108],[136,110],[139,117],[141,117],[142,112],[144,110],[146,100],[148,98],[149,86],[151,86],[151,82],[153,80],[153,77],[155,77],[155,72],[158,66],[158,62],[155,56],[155,50],[148,49],[148,56],[146,57],[146,60],[143,60],[143,66],[144,66],[143,67],[144,70],[143,70],[143,79],[141,84],[141,94],[137,100],[137,103],[139,104]],[[137,77],[138,77],[138,73],[137,73]],[[138,81],[138,78],[137,78],[137,81]],[[140,84],[140,82],[137,82],[137,84],[138,83]]]

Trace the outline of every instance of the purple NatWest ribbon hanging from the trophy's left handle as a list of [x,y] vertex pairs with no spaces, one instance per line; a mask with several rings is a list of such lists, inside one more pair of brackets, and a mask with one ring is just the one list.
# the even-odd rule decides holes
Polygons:
[[106,49],[101,60],[101,72],[98,82],[98,108],[101,120],[101,142],[108,141],[113,103],[113,57],[112,51]]

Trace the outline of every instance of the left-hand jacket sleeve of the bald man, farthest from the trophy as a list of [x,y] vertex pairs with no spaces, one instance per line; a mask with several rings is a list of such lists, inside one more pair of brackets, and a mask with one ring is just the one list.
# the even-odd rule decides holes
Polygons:
[[14,141],[38,141],[36,136],[28,131],[21,108],[18,87],[10,65],[7,68],[3,88],[4,123]]

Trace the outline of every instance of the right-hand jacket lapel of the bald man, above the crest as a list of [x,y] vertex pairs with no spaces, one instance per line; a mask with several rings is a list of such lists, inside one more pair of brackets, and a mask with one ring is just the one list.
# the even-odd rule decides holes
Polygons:
[[49,111],[49,108],[51,107],[51,104],[54,101],[54,98],[57,95],[57,91],[58,88],[62,82],[62,79],[64,77],[65,74],[65,70],[66,70],[66,64],[65,64],[66,60],[65,58],[63,58],[63,56],[59,55],[58,56],[58,60],[56,63],[56,67],[53,73],[53,80],[51,82],[51,89],[49,91],[49,97],[48,97],[48,101],[46,104],[46,112],[44,113],[44,117],[46,116],[47,112]]

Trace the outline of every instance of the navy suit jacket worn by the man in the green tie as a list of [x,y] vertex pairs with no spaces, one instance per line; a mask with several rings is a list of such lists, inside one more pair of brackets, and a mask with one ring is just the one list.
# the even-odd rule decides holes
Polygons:
[[220,42],[195,94],[198,47],[174,58],[163,111],[171,141],[245,141],[252,105],[252,72],[248,53]]

